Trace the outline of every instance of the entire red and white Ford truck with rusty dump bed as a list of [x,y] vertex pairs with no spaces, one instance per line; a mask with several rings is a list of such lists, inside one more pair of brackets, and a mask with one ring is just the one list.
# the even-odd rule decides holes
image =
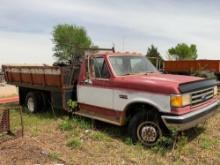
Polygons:
[[80,70],[3,66],[3,71],[6,81],[19,87],[20,104],[30,112],[43,109],[46,100],[70,111],[66,103],[75,100],[75,114],[127,125],[133,142],[146,146],[155,144],[167,130],[195,127],[219,104],[216,80],[162,74],[135,53],[89,55]]

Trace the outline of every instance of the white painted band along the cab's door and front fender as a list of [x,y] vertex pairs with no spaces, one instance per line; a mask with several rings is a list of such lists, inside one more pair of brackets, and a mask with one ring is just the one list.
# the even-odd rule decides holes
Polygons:
[[[79,103],[114,109],[116,111],[123,111],[128,104],[134,102],[151,104],[163,112],[170,112],[171,109],[169,95],[84,85],[78,85],[77,92]],[[127,96],[127,99],[120,98],[120,95]]]

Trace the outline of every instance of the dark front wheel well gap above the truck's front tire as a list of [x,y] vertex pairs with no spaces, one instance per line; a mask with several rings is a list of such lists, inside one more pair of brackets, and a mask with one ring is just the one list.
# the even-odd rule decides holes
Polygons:
[[132,103],[128,105],[125,109],[125,123],[127,123],[137,112],[140,111],[151,111],[156,113],[157,115],[160,114],[159,110],[147,103]]

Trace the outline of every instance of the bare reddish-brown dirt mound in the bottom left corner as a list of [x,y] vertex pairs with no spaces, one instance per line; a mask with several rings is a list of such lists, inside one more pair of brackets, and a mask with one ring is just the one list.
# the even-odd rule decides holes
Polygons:
[[0,143],[0,165],[64,164],[53,160],[49,151],[33,138],[24,137]]

